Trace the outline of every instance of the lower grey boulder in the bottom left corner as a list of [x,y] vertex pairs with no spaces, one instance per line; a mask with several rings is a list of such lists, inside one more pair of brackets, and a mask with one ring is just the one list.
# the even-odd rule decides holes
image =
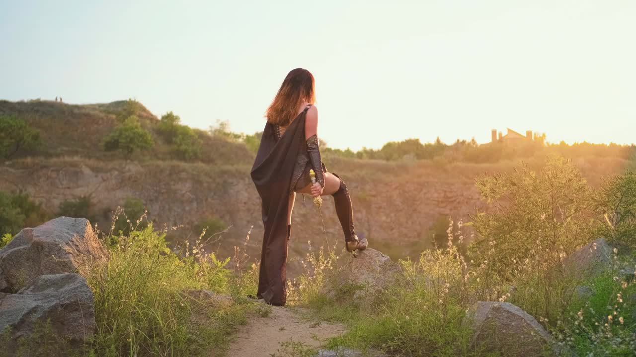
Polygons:
[[85,278],[74,273],[43,275],[18,293],[0,293],[0,332],[11,328],[12,346],[3,346],[9,355],[20,337],[29,337],[47,321],[51,332],[71,346],[88,342],[95,332],[95,310]]

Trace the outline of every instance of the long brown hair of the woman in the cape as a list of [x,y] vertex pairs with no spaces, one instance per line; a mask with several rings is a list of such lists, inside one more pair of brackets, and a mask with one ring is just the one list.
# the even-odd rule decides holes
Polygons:
[[265,116],[270,123],[287,126],[298,116],[303,101],[315,102],[314,76],[307,69],[296,68],[287,73]]

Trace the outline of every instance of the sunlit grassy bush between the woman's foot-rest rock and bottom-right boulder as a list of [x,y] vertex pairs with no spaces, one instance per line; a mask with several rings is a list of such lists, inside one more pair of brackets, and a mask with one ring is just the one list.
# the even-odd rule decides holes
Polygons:
[[481,356],[469,349],[471,331],[466,310],[483,297],[480,267],[469,267],[453,241],[461,241],[461,222],[455,233],[448,222],[444,248],[426,250],[416,261],[400,260],[404,277],[382,293],[377,306],[347,307],[322,302],[336,310],[350,331],[330,339],[328,346],[375,348],[396,356]]

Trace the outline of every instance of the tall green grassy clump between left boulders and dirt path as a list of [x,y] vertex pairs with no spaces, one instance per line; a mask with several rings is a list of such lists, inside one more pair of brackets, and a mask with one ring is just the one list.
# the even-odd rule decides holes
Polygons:
[[202,304],[187,291],[226,287],[228,260],[197,251],[179,257],[151,224],[111,238],[106,266],[93,267],[97,356],[197,356],[222,347],[245,309]]

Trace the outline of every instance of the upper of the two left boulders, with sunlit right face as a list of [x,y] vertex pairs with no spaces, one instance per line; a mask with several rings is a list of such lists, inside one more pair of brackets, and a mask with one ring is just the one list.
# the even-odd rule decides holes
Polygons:
[[16,292],[46,274],[88,274],[108,253],[83,218],[59,217],[25,228],[0,250],[0,291]]

